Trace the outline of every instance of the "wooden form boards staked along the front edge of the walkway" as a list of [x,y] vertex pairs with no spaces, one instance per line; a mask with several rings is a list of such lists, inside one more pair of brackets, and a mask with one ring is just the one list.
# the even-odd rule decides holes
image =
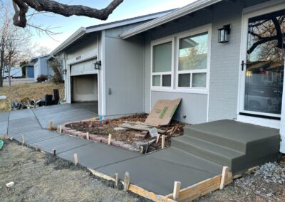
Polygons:
[[[108,180],[108,181],[115,181],[115,178],[110,177],[108,175],[102,174],[98,171],[95,171],[93,169],[89,169],[91,173],[95,176],[98,176],[102,179]],[[219,186],[221,184],[222,175],[214,176],[211,179],[207,179],[204,181],[201,181],[195,185],[189,186],[187,188],[182,188],[179,193],[179,200],[178,201],[193,201],[196,198],[199,198],[201,196],[206,195],[207,193],[210,193],[212,191],[216,191],[219,189]],[[227,176],[224,181],[224,185],[231,184],[233,181],[232,179],[232,173],[228,172]],[[123,181],[120,181],[122,184],[124,184]],[[134,184],[130,184],[128,191],[131,191],[133,193],[136,193],[142,197],[148,198],[152,201],[156,202],[174,202],[173,200],[173,193],[170,193],[167,196],[162,196],[156,193],[153,193],[152,191],[147,191],[144,188],[141,188],[139,186],[136,186]]]

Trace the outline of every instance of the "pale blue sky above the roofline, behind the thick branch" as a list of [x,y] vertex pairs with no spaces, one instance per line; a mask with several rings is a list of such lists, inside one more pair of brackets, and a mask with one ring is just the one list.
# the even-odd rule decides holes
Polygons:
[[[112,0],[61,0],[60,2],[63,4],[81,4],[96,9],[102,9],[110,4],[111,1]],[[51,38],[46,34],[39,34],[36,30],[31,28],[31,32],[33,33],[32,41],[38,46],[46,46],[49,50],[53,50],[82,26],[93,26],[100,23],[118,21],[125,18],[132,18],[135,16],[142,16],[159,11],[180,8],[192,3],[193,1],[195,0],[124,0],[123,3],[120,4],[115,11],[113,11],[113,14],[109,16],[107,21],[100,21],[94,18],[87,18],[83,16],[71,16],[67,18],[54,14],[36,14],[33,16],[33,18],[31,18],[29,23],[41,25],[43,28],[54,28],[53,31],[60,34],[57,34]],[[29,12],[32,12],[31,9]]]

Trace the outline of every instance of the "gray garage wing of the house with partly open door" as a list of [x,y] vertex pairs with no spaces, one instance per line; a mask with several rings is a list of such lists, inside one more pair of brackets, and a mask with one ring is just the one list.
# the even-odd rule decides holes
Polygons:
[[168,13],[80,28],[53,50],[48,61],[63,66],[66,102],[98,102],[104,118],[144,112],[143,38],[126,43],[118,34]]

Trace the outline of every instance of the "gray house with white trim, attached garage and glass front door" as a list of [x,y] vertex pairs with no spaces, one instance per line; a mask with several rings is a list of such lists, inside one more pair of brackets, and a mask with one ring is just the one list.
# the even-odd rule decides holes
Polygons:
[[[67,102],[95,87],[98,113],[108,118],[182,97],[182,122],[234,119],[280,129],[285,139],[284,0],[198,0],[130,21],[81,28],[53,51],[69,48]],[[98,85],[76,85],[73,75],[88,68]]]

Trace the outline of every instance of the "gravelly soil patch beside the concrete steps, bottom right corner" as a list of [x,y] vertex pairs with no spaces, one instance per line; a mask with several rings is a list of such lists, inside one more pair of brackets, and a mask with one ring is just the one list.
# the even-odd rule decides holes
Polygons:
[[196,201],[284,201],[285,165],[267,163],[255,174],[236,179],[222,191],[214,191]]

